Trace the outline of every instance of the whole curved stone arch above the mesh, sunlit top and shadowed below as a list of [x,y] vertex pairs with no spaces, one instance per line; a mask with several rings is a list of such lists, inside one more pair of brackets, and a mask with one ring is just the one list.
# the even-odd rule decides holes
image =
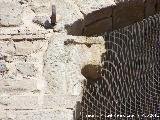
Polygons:
[[159,0],[70,0],[65,5],[57,1],[59,22],[54,29],[75,36],[100,35],[158,13],[159,4]]

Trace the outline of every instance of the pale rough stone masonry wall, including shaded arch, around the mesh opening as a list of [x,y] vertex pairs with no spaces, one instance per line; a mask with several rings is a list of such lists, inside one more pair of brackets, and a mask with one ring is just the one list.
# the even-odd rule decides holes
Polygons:
[[98,35],[158,11],[159,0],[57,0],[53,26],[50,0],[1,0],[0,120],[78,118],[105,53]]

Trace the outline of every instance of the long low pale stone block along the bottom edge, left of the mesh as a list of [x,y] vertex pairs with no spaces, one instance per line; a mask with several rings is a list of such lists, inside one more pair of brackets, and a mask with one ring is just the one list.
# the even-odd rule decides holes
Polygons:
[[[7,111],[9,120],[73,120],[73,110],[22,110]],[[8,119],[7,119],[8,120]]]

